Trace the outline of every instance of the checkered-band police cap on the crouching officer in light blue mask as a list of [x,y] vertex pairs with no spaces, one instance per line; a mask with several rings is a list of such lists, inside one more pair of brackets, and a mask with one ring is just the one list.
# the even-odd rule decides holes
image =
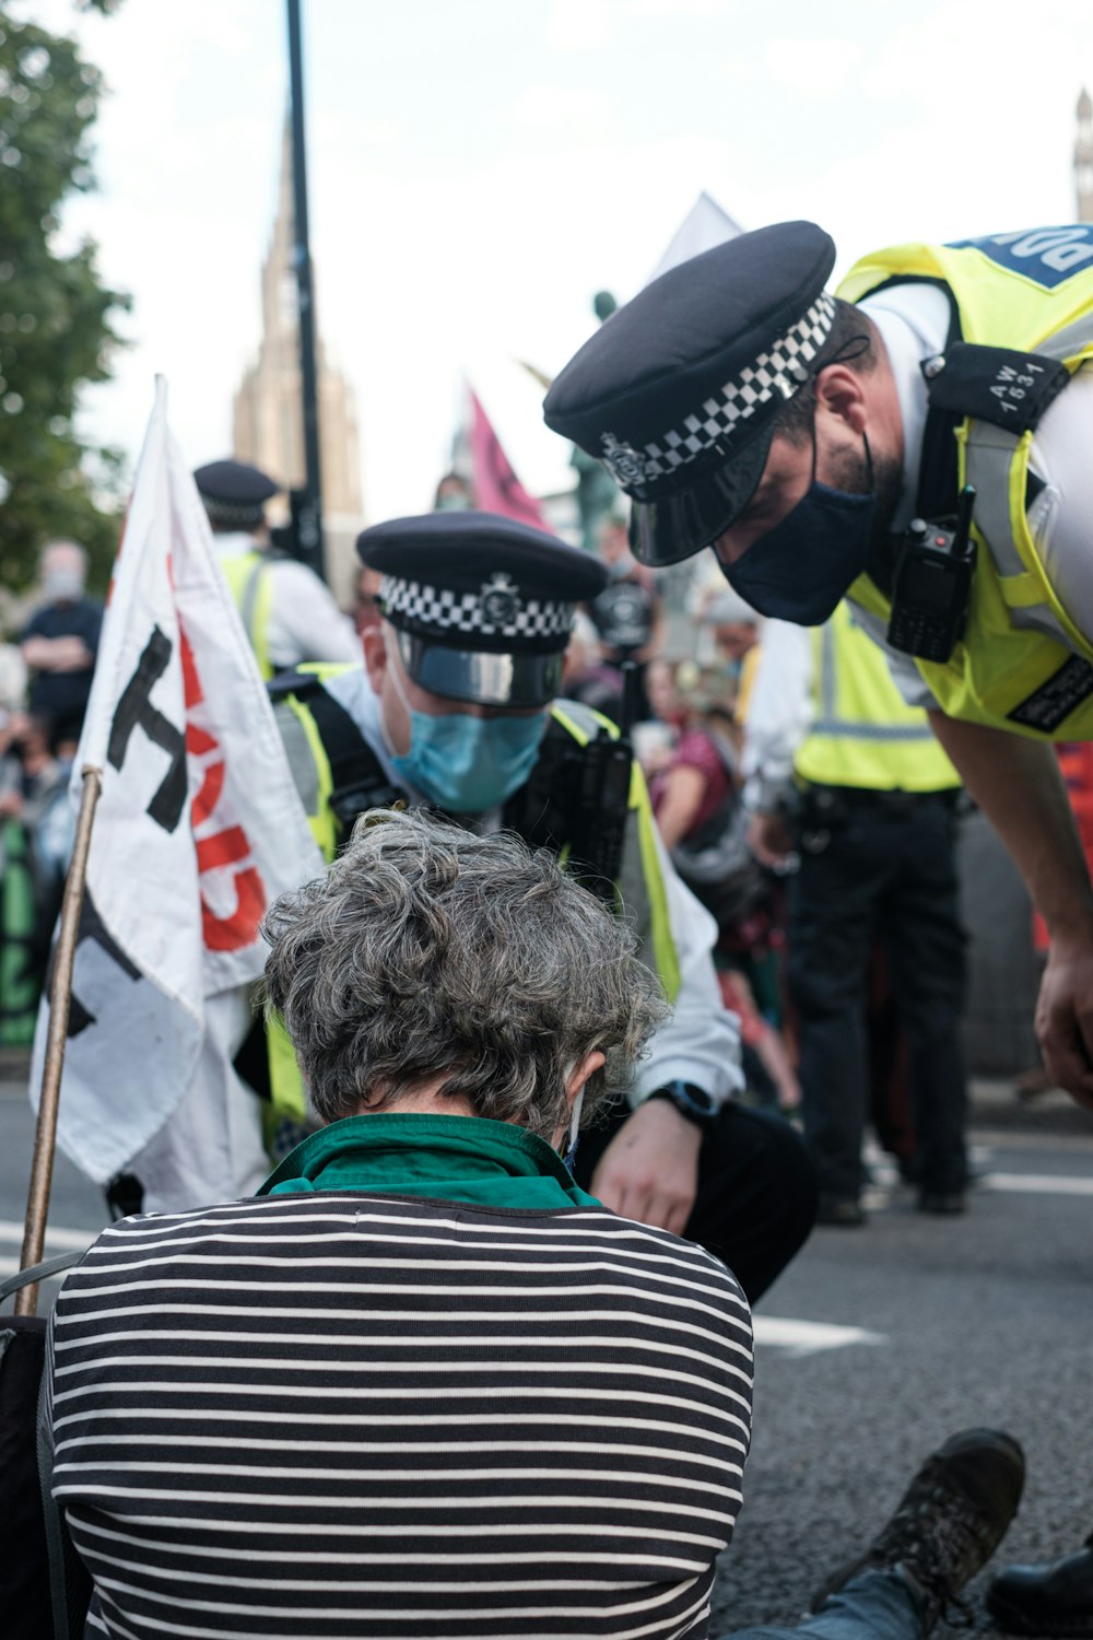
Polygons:
[[413,681],[480,705],[541,707],[559,692],[574,607],[606,571],[542,530],[485,512],[392,518],[357,536],[361,563]]

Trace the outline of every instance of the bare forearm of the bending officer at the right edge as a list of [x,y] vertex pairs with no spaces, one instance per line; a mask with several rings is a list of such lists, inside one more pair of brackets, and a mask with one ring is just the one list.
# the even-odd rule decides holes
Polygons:
[[1060,1087],[1093,1105],[1093,891],[1055,753],[941,712],[929,717],[1047,923],[1036,1007],[1044,1063]]

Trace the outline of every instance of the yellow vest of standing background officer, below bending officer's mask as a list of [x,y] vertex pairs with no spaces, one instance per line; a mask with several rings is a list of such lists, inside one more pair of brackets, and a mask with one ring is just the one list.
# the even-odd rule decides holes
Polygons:
[[942,792],[960,776],[929,720],[909,707],[883,649],[841,604],[813,640],[813,727],[793,759],[813,786],[873,792]]

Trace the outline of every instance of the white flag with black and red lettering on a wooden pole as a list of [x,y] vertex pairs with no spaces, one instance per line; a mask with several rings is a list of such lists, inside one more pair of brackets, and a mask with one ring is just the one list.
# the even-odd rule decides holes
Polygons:
[[[185,1094],[205,999],[256,979],[269,902],[323,869],[272,707],[167,430],[141,453],[74,769],[102,771],[57,1140],[105,1184]],[[48,1028],[38,1020],[36,1097]]]

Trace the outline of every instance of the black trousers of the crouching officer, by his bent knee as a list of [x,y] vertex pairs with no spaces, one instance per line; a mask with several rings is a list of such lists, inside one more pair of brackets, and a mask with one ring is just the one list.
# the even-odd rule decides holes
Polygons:
[[[629,1117],[619,1105],[580,1135],[574,1173],[590,1189],[600,1156]],[[782,1274],[816,1222],[816,1171],[780,1117],[726,1105],[703,1138],[685,1235],[729,1266],[751,1304]]]

